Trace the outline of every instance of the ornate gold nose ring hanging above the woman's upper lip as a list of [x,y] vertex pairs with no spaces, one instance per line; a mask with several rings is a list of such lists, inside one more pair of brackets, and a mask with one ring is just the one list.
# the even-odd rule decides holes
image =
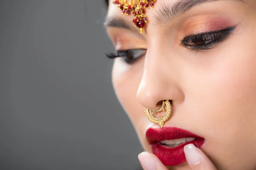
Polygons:
[[[166,105],[166,114],[163,117],[158,116],[158,118],[155,118],[153,116],[153,114],[157,113],[157,112],[165,111],[165,105]],[[145,115],[147,116],[148,120],[150,120],[153,123],[158,123],[159,126],[161,128],[163,128],[164,122],[166,122],[169,119],[169,117],[171,116],[172,106],[171,106],[171,103],[169,102],[169,100],[166,100],[166,101],[163,101],[163,105],[160,109],[151,110],[151,111],[152,111],[152,113],[150,113],[148,108],[145,108]]]

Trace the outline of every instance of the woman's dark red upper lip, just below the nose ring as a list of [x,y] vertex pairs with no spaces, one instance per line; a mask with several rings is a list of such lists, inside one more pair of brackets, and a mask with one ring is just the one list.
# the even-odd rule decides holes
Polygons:
[[195,135],[188,130],[180,129],[177,127],[163,127],[161,128],[149,128],[146,131],[146,138],[150,144],[155,144],[163,140],[173,140],[182,138],[195,138],[204,139],[198,135]]

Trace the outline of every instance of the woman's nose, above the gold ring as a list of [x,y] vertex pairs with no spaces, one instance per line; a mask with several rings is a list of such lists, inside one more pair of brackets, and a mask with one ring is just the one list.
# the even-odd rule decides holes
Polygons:
[[[158,48],[159,49],[159,48]],[[143,77],[137,91],[137,99],[144,108],[157,110],[162,100],[179,104],[184,100],[175,57],[167,52],[159,53],[157,48],[148,48]]]

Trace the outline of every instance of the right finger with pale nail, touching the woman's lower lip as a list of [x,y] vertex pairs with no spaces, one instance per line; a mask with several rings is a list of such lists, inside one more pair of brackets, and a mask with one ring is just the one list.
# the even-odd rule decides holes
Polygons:
[[192,170],[217,170],[204,152],[193,144],[184,146],[186,160]]

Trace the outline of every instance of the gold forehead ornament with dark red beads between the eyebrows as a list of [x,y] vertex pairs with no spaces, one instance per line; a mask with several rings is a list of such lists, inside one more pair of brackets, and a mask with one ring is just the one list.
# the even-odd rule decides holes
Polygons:
[[140,33],[143,33],[143,28],[145,27],[145,24],[147,23],[147,18],[145,15],[145,9],[146,8],[154,8],[154,2],[156,0],[137,0],[137,3],[135,3],[135,0],[130,0],[129,3],[126,2],[126,0],[113,0],[113,4],[118,5],[118,9],[122,10],[122,15],[134,15],[134,20],[132,23],[135,27],[140,28]]

